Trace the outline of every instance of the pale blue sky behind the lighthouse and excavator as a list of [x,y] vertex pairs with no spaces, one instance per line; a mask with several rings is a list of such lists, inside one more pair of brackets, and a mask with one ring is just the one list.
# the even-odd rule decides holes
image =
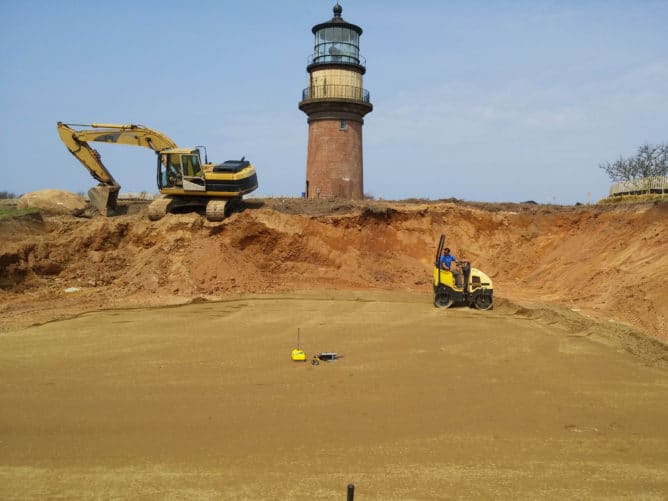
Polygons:
[[[139,123],[246,156],[298,196],[314,24],[334,0],[0,0],[0,191],[85,192],[56,122]],[[668,141],[668,2],[341,0],[364,30],[364,191],[385,199],[604,197],[598,166]],[[122,191],[154,154],[93,145]]]

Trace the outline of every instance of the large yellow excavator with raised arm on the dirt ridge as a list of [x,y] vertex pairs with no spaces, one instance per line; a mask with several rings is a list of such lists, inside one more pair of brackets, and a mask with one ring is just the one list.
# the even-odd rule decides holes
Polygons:
[[[105,216],[114,214],[121,187],[89,142],[143,146],[156,152],[161,196],[148,207],[152,220],[183,207],[205,207],[207,219],[221,221],[243,195],[258,187],[255,168],[245,158],[209,163],[203,146],[179,148],[162,132],[143,125],[58,122],[58,134],[70,153],[99,182],[88,191],[88,197],[91,205]],[[204,162],[200,148],[204,148]]]

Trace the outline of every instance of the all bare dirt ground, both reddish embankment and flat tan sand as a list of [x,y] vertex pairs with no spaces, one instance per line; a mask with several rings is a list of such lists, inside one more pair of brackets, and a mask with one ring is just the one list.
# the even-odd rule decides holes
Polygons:
[[144,211],[0,219],[1,497],[668,496],[668,204]]

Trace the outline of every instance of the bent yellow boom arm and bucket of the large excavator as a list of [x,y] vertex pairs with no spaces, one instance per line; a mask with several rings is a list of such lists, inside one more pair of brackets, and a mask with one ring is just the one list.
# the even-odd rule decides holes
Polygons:
[[[74,129],[73,127],[90,128]],[[135,124],[77,125],[58,122],[58,134],[69,152],[99,181],[99,185],[88,191],[88,196],[91,204],[105,215],[112,213],[116,208],[121,186],[104,166],[100,154],[88,144],[89,142],[143,146],[155,152],[176,148],[176,143],[162,132]]]

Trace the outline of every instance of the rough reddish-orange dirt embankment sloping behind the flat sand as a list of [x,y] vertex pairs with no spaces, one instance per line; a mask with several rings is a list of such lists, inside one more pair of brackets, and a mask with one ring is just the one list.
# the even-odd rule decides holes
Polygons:
[[[198,214],[0,220],[7,324],[111,306],[306,289],[431,293],[441,233],[495,295],[667,340],[668,203],[624,207],[251,200]],[[65,290],[73,292],[64,292]]]

